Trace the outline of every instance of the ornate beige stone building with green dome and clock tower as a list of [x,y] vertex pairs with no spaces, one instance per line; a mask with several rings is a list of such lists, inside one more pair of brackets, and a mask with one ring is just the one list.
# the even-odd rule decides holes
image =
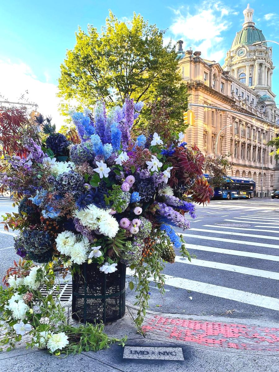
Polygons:
[[223,67],[200,51],[183,51],[179,40],[177,58],[195,113],[185,140],[205,155],[229,154],[229,175],[254,178],[258,191],[263,182],[263,191],[271,192],[279,189],[279,164],[267,142],[279,135],[279,110],[272,92],[272,48],[253,13],[248,4]]

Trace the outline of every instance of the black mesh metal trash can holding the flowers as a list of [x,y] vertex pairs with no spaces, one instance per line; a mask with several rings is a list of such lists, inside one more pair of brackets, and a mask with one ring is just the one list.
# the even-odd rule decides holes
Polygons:
[[105,274],[96,263],[84,263],[73,275],[72,318],[81,323],[108,323],[125,314],[126,265]]

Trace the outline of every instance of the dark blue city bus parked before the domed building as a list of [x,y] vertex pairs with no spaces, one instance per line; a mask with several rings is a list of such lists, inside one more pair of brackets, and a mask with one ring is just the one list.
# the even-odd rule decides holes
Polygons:
[[[205,178],[209,178],[208,174],[203,174]],[[256,182],[253,178],[243,177],[223,177],[224,183],[219,187],[214,187],[214,198],[220,199],[251,199],[256,193]]]

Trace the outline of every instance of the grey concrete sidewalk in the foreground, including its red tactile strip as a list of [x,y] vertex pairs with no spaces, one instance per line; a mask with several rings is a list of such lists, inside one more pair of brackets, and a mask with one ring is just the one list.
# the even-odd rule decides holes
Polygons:
[[[228,322],[227,318],[176,316],[148,311],[143,337],[133,324],[136,312],[135,307],[127,305],[122,319],[105,326],[110,336],[128,336],[126,346],[138,350],[129,349],[129,358],[132,359],[123,356],[124,349],[118,344],[97,353],[84,352],[59,358],[45,350],[26,350],[22,341],[16,349],[0,353],[0,372],[279,371],[279,324],[239,319],[232,322],[231,318]],[[145,358],[148,353],[155,354],[150,350],[157,349],[150,347],[180,348],[184,360],[139,359]],[[159,354],[160,358],[165,358],[168,352]],[[176,355],[176,352],[171,354]]]

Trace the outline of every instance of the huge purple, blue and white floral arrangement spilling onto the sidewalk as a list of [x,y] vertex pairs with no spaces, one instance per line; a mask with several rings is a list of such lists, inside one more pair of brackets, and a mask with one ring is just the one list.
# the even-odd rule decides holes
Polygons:
[[[21,152],[6,155],[1,165],[1,191],[12,189],[18,212],[4,217],[5,228],[18,230],[19,263],[7,271],[0,289],[2,344],[32,336],[30,346],[61,351],[98,350],[115,339],[103,326],[67,325],[55,297],[57,280],[98,264],[106,275],[119,262],[134,270],[140,327],[148,306],[149,278],[164,291],[163,269],[174,263],[175,250],[190,259],[182,236],[195,207],[209,202],[212,191],[202,178],[204,157],[181,134],[165,146],[156,132],[133,134],[142,103],[126,98],[122,108],[106,110],[98,102],[89,110],[71,112],[78,140],[56,133],[40,118],[44,141],[22,138]],[[73,137],[75,138],[75,137]],[[41,294],[44,287],[47,296]],[[84,340],[87,340],[86,342]],[[117,340],[122,341],[123,340]]]

